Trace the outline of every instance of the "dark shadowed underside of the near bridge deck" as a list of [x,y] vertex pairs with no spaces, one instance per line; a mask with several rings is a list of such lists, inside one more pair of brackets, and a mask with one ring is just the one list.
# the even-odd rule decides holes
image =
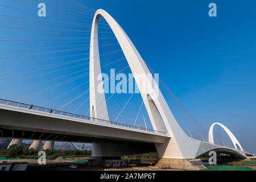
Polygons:
[[[26,130],[13,130],[6,129],[0,126],[0,134],[3,138],[20,138],[31,140],[53,140],[60,142],[82,142],[82,143],[98,143],[105,146],[105,152],[110,153],[110,156],[143,154],[146,152],[156,152],[153,143],[131,142],[116,139],[105,139],[97,137],[84,137],[79,135],[67,135],[59,133],[43,133],[40,131],[26,131]],[[114,151],[113,151],[114,149]],[[112,150],[111,152],[108,152]],[[121,151],[120,151],[121,150]]]

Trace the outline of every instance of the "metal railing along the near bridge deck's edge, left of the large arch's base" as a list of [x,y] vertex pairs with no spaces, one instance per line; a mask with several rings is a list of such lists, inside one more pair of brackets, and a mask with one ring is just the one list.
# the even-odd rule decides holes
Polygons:
[[24,109],[42,111],[42,112],[49,113],[49,114],[64,115],[66,117],[77,118],[77,119],[84,119],[86,121],[89,120],[91,122],[102,123],[104,125],[114,125],[114,126],[125,127],[125,128],[129,128],[129,129],[140,130],[140,131],[146,131],[146,132],[150,132],[150,133],[158,133],[158,134],[163,134],[163,135],[167,134],[166,132],[163,132],[163,131],[156,131],[156,130],[151,130],[151,129],[145,129],[143,127],[127,125],[127,124],[113,122],[113,121],[107,121],[107,120],[104,120],[104,119],[92,118],[92,117],[88,117],[88,116],[85,116],[85,115],[68,113],[68,112],[65,112],[65,111],[49,109],[49,108],[41,107],[41,106],[34,106],[34,105],[24,104],[24,103],[21,103],[21,102],[4,100],[4,99],[1,99],[1,98],[0,98],[0,104],[10,105],[10,106],[15,106],[15,107],[22,107]]

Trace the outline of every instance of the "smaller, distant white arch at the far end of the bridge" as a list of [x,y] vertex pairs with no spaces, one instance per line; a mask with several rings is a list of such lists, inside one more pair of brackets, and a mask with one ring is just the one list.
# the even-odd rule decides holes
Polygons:
[[[214,139],[213,139],[213,127],[215,125],[218,125],[220,127],[222,127],[222,129],[224,129],[226,131],[226,133],[229,135],[229,138],[232,140],[232,143],[234,145],[234,147],[236,148],[236,150],[242,150],[243,151],[243,148],[241,146],[241,144],[238,142],[237,138],[234,136],[234,134],[224,125],[222,125],[221,123],[213,123],[211,126],[210,126],[210,130],[209,130],[209,142],[210,143],[214,143]],[[237,146],[240,147],[240,149],[237,148]]]

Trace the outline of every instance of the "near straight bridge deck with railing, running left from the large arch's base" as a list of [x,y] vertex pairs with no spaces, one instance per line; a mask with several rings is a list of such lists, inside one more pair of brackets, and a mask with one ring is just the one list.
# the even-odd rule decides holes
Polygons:
[[170,138],[161,131],[7,100],[0,100],[0,115],[1,137],[120,143],[163,143]]

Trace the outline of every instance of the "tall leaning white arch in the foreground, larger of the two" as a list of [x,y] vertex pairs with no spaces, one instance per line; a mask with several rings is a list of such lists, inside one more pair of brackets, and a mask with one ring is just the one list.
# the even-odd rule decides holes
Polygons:
[[[101,9],[97,10],[94,15],[90,40],[90,115],[93,115],[96,118],[109,120],[105,93],[97,92],[98,85],[103,86],[102,77],[100,80],[97,79],[98,75],[101,75],[100,56],[98,51],[98,20],[101,16],[108,22],[117,38],[134,77],[137,74],[150,74],[150,76],[146,77],[146,80],[144,80],[148,86],[146,93],[144,92],[144,88],[142,88],[138,77],[135,77],[135,81],[141,92],[144,105],[146,106],[154,130],[166,131],[171,136],[171,140],[168,140],[166,143],[156,144],[159,156],[167,158],[194,158],[196,151],[191,151],[191,144],[189,143],[192,142],[191,139],[184,133],[177,123],[158,86],[154,87],[154,85],[156,85],[155,80],[141,55],[131,42],[130,38],[126,35],[125,31],[123,31],[122,27],[119,26],[112,16]],[[198,142],[196,145],[199,145]]]

